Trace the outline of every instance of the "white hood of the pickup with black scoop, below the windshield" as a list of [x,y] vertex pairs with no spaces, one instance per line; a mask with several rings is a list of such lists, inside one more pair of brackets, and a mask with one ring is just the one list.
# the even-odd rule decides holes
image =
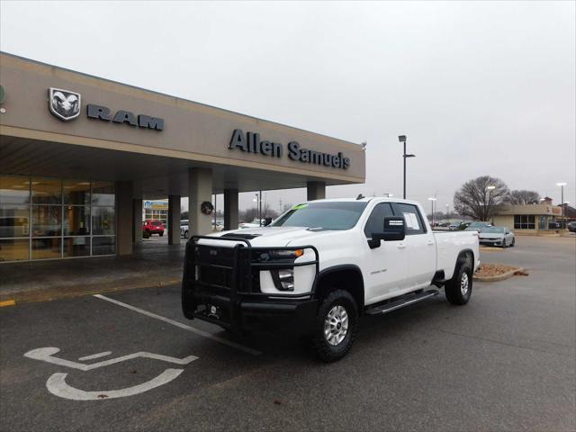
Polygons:
[[232,237],[238,235],[239,238],[246,238],[255,247],[282,247],[282,246],[306,246],[319,237],[323,237],[331,230],[314,231],[302,227],[263,227],[234,229],[231,231],[219,232],[210,237]]

